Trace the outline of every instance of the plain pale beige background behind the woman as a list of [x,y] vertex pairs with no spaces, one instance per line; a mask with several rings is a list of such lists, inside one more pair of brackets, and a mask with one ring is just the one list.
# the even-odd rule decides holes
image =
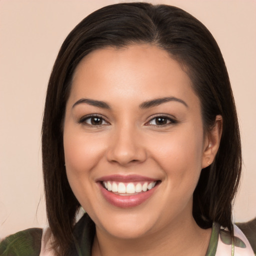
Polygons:
[[[40,126],[47,80],[67,33],[118,0],[0,0],[0,237],[43,226]],[[256,216],[256,1],[151,0],[181,7],[212,32],[237,104],[243,178],[234,219]]]

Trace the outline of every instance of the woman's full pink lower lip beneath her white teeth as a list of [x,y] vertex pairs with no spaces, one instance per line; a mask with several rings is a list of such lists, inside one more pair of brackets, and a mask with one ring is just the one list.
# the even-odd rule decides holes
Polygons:
[[147,200],[155,191],[156,186],[145,192],[140,192],[134,195],[118,195],[106,190],[100,183],[99,187],[103,197],[112,205],[119,208],[129,208],[137,206]]

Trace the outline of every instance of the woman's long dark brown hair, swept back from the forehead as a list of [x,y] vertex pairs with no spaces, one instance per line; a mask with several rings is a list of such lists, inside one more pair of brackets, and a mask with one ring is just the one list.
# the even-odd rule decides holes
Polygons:
[[193,196],[193,216],[203,228],[216,221],[232,230],[232,200],[241,171],[238,122],[230,82],[219,47],[208,29],[189,13],[168,5],[119,3],[85,17],[68,34],[54,63],[42,123],[42,158],[49,226],[61,255],[73,240],[79,202],[66,177],[62,121],[72,74],[92,50],[150,43],[169,52],[190,76],[201,103],[204,130],[222,115],[217,155],[201,171]]

